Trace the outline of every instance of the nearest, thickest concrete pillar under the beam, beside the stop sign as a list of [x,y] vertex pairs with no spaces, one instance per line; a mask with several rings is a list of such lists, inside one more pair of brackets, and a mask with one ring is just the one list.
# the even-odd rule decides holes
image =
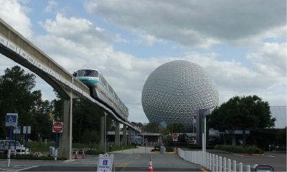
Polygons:
[[59,156],[72,160],[72,102],[73,99],[63,100],[63,133],[61,133]]

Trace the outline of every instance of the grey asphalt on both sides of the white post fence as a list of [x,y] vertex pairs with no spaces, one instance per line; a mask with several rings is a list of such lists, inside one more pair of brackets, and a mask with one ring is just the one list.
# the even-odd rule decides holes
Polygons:
[[[176,154],[159,154],[151,152],[152,148],[138,147],[124,151],[114,151],[116,171],[148,171],[149,158],[152,160],[153,171],[204,171],[202,166],[187,162]],[[242,162],[244,166],[269,164],[275,171],[286,171],[286,152],[265,152],[264,156],[240,155],[224,151],[208,150],[225,158]],[[0,160],[0,171],[96,171],[98,155],[78,156],[76,160],[44,161],[44,160],[11,160],[7,167],[6,160]]]

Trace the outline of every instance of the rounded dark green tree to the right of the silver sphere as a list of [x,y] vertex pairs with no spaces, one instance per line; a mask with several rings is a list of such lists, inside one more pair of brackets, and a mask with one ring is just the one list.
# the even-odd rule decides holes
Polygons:
[[[235,96],[214,109],[209,116],[209,126],[233,133],[242,130],[242,144],[246,144],[247,129],[264,129],[274,126],[268,102],[258,96]],[[234,144],[234,143],[233,143]]]

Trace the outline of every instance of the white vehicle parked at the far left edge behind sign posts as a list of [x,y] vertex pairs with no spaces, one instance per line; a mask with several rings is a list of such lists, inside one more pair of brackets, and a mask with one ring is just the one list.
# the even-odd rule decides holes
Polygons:
[[[0,140],[0,152],[7,154],[9,147],[9,140]],[[14,153],[15,140],[11,140],[11,153]],[[25,147],[23,147],[20,142],[16,141],[16,151],[17,153],[25,153]],[[27,148],[27,152],[29,149]]]

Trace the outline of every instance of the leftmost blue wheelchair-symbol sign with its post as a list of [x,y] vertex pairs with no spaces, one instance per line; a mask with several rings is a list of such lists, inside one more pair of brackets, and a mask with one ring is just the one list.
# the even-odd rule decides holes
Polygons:
[[7,127],[10,127],[10,130],[9,130],[9,146],[8,146],[8,153],[7,153],[7,166],[9,167],[10,166],[10,154],[11,154],[11,137],[12,137],[13,127],[17,126],[17,123],[18,123],[18,114],[7,113],[5,123],[6,123]]

